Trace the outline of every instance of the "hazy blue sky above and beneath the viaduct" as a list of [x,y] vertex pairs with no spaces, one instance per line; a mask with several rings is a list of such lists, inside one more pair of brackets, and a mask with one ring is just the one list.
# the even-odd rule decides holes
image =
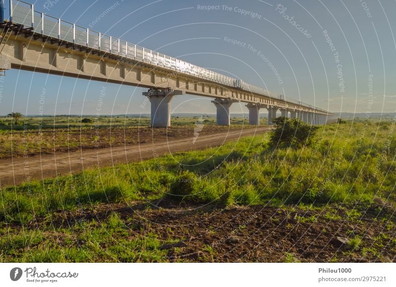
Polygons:
[[[332,112],[396,112],[394,0],[32,2],[35,10]],[[141,108],[143,89],[131,86],[18,70],[7,71],[2,85],[1,115],[38,114],[44,88],[48,115],[95,114],[103,88],[101,114],[149,113]],[[215,113],[210,100],[178,96],[172,109]],[[247,109],[234,104],[231,112]]]

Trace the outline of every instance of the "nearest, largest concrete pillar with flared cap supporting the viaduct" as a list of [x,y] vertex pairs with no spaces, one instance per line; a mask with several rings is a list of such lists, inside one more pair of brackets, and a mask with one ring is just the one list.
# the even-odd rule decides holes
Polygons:
[[170,126],[170,103],[175,95],[183,94],[182,91],[174,91],[170,88],[164,90],[150,89],[144,92],[151,103],[151,126],[168,127]]

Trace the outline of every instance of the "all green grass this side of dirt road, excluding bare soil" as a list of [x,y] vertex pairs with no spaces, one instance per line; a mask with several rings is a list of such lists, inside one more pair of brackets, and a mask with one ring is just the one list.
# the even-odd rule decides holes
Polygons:
[[[278,119],[277,125],[282,121],[288,126],[287,132],[293,132],[297,122]],[[51,218],[59,210],[78,211],[105,203],[132,205],[166,199],[218,207],[288,208],[289,205],[303,209],[307,206],[307,210],[328,204],[371,206],[376,200],[394,203],[396,134],[390,132],[395,129],[394,124],[367,121],[329,124],[309,131],[317,132],[315,139],[296,139],[293,147],[289,147],[293,142],[284,142],[283,148],[271,144],[273,135],[277,134],[274,132],[272,136],[247,137],[202,151],[3,188],[0,190],[0,260],[161,261],[167,254],[159,248],[163,242],[153,233],[128,239],[127,227],[134,222],[128,218],[121,220],[116,213],[105,222],[91,219],[56,229],[61,237],[60,245],[46,237],[46,230],[53,229],[50,224],[40,231],[10,228],[10,224],[29,226],[37,219]],[[302,133],[306,135],[306,132]],[[320,217],[297,214],[295,220],[298,224],[314,224],[318,218],[336,223],[358,222],[363,216],[355,208],[347,209],[343,217],[336,212],[326,209]],[[380,208],[374,214],[381,212]],[[389,221],[389,217],[383,218]],[[279,218],[274,219],[273,224],[278,222]],[[390,229],[394,226],[391,221],[386,224]],[[246,229],[238,226],[241,225],[236,227],[240,232]],[[213,228],[211,232],[216,233]],[[168,242],[172,240],[169,238]],[[384,245],[383,238],[376,240]],[[79,245],[71,247],[75,242]],[[361,249],[365,254],[375,254],[380,248],[362,246],[362,239],[356,236],[348,242],[348,252]],[[205,252],[213,259],[214,251],[209,247]],[[29,252],[25,253],[27,249]],[[286,253],[284,261],[297,262],[297,259]]]

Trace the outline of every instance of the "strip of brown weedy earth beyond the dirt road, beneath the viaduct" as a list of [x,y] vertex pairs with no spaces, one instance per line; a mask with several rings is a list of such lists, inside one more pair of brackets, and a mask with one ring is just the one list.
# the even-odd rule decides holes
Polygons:
[[[248,127],[232,127],[241,130]],[[251,127],[250,127],[251,128]],[[199,134],[225,132],[226,126],[203,125]],[[6,130],[0,133],[0,159],[73,152],[163,141],[194,135],[194,126],[149,127],[84,127]]]

